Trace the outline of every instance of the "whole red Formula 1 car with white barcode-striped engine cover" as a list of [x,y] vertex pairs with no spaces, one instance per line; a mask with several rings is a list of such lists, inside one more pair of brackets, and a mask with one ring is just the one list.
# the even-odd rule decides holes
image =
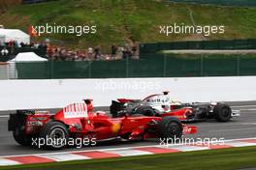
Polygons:
[[19,110],[10,115],[9,130],[13,131],[20,145],[31,145],[32,140],[38,138],[51,141],[44,143],[48,144],[45,147],[59,149],[65,147],[65,141],[70,138],[88,138],[94,142],[117,137],[126,140],[173,139],[182,134],[195,133],[197,128],[183,125],[169,116],[123,115],[112,118],[105,112],[93,112],[91,100],[86,99],[85,103],[70,104],[55,114]]

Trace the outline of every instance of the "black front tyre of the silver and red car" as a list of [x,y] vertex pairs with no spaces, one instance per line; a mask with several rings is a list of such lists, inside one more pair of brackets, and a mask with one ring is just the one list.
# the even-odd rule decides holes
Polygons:
[[224,103],[218,103],[214,109],[213,113],[215,115],[215,119],[218,122],[228,122],[231,119],[232,110],[229,105]]

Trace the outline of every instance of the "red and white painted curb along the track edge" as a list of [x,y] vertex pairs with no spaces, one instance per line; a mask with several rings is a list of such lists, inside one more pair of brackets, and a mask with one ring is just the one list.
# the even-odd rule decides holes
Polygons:
[[152,145],[141,147],[117,148],[117,149],[100,149],[93,151],[78,152],[61,152],[51,154],[23,155],[23,156],[0,156],[0,166],[48,163],[70,160],[85,160],[94,158],[110,158],[120,156],[144,156],[156,154],[168,154],[179,152],[217,150],[235,147],[256,146],[255,138],[242,138],[226,140],[224,143],[204,143],[196,145]]

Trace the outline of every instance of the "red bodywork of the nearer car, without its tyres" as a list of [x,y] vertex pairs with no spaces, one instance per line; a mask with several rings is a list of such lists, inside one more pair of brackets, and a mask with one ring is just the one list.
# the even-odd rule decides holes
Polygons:
[[[92,102],[85,101],[81,104],[70,104],[55,114],[36,113],[26,117],[25,133],[38,134],[40,129],[50,120],[66,125],[73,137],[88,137],[97,140],[110,139],[118,136],[126,136],[127,139],[156,137],[148,133],[146,129],[155,129],[154,124],[161,117],[132,117],[124,116],[112,118],[105,112],[93,112]],[[182,112],[180,112],[180,115]],[[196,133],[194,126],[183,125],[183,134]]]

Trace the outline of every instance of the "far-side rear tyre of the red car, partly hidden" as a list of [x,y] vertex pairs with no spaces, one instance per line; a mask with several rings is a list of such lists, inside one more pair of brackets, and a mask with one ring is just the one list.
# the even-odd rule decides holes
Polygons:
[[13,131],[13,136],[16,140],[16,143],[21,146],[30,146],[32,143],[31,136],[26,135],[21,128],[16,128]]

